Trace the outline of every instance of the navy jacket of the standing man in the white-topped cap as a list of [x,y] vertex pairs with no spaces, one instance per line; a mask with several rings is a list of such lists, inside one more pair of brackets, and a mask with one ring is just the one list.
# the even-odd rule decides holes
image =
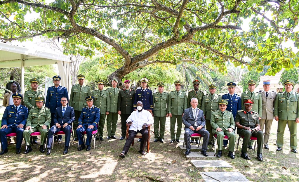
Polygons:
[[135,91],[135,97],[133,102],[134,109],[137,109],[137,102],[141,101],[143,103],[143,108],[146,110],[154,110],[154,104],[152,102],[152,91],[149,89],[145,89],[144,91],[141,89],[137,89]]

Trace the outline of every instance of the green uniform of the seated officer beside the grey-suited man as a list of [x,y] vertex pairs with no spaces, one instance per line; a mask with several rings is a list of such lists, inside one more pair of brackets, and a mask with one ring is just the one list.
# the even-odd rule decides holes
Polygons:
[[[234,152],[236,135],[234,133],[235,121],[233,113],[225,110],[222,115],[220,110],[214,111],[211,116],[211,126],[213,134],[217,135],[218,149],[222,150],[223,138],[226,135],[229,141],[229,151]],[[222,131],[216,131],[217,128],[221,128]],[[228,128],[233,129],[233,131],[228,132]]]

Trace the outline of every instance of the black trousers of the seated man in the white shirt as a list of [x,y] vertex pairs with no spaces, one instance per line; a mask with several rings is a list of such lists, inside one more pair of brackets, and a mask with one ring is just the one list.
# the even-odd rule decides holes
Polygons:
[[149,138],[149,132],[148,132],[147,127],[145,129],[140,130],[140,131],[139,130],[137,130],[137,131],[129,130],[129,137],[126,139],[125,146],[123,147],[123,151],[125,151],[125,154],[128,153],[129,148],[130,148],[132,142],[134,141],[135,136],[138,132],[140,132],[141,135],[142,135],[139,151],[144,150],[145,144],[147,143],[147,139]]

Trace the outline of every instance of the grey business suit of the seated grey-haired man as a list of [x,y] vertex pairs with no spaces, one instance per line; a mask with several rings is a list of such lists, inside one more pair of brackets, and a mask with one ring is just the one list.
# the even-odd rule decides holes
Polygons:
[[[204,141],[202,143],[202,151],[207,151],[210,133],[205,129],[205,117],[203,111],[197,107],[196,109],[197,109],[196,119],[193,117],[192,107],[184,110],[183,124],[185,125],[184,129],[185,129],[186,150],[191,150],[190,136],[194,133],[198,133],[201,134],[204,138]],[[197,127],[202,125],[202,128],[198,131],[196,131],[197,127],[195,126],[195,122]],[[193,126],[195,130],[194,131],[191,130],[190,126]]]

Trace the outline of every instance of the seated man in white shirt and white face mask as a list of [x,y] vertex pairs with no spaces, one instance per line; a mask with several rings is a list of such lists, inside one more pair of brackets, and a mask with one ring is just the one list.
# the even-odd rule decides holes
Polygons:
[[129,137],[126,140],[123,151],[120,153],[119,157],[125,157],[125,154],[128,153],[129,148],[138,132],[142,134],[140,149],[138,152],[142,155],[145,155],[144,147],[148,139],[147,125],[153,124],[154,119],[152,118],[152,114],[149,111],[143,109],[143,104],[141,101],[138,101],[136,105],[137,110],[133,111],[129,118],[126,120],[126,122],[131,125],[129,129]]

